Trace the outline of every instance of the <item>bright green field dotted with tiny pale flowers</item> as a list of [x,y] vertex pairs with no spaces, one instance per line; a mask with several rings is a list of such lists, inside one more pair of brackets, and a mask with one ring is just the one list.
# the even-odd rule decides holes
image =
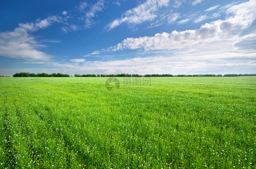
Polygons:
[[256,168],[256,77],[118,79],[0,78],[0,168]]

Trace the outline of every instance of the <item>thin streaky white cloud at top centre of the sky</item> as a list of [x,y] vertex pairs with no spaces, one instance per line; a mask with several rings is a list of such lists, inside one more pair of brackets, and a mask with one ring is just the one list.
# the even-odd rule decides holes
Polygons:
[[109,23],[105,29],[110,31],[122,23],[128,24],[140,24],[144,21],[153,20],[157,15],[154,13],[158,11],[161,7],[167,6],[169,0],[147,0],[143,4],[128,10],[119,19],[115,19],[113,22]]

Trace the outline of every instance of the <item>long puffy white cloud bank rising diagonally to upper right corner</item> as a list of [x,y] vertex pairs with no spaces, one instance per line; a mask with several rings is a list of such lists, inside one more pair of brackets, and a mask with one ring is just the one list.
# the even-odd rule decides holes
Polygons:
[[[244,36],[244,34],[250,33],[250,31],[255,31],[254,27],[252,27],[252,23],[256,18],[255,8],[256,3],[254,1],[245,2],[227,9],[227,13],[232,14],[232,16],[226,20],[206,23],[195,30],[172,31],[171,33],[163,32],[150,37],[127,38],[116,46],[109,47],[107,50],[174,50],[195,44],[221,41],[223,39],[232,42]],[[204,15],[199,17],[195,22],[199,22],[205,18],[206,16]],[[176,38],[174,39],[174,37]]]

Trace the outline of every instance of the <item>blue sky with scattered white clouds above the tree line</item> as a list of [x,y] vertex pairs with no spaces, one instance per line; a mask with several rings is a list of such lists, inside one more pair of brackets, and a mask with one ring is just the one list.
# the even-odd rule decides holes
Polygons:
[[255,74],[256,0],[1,1],[0,72]]

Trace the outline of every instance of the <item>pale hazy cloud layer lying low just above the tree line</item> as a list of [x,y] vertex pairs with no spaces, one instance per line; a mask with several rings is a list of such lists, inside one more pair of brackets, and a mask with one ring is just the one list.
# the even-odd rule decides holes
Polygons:
[[[232,73],[232,71],[234,72],[234,70],[235,72],[237,72],[238,69],[251,69],[251,71],[255,70],[255,54],[256,53],[243,54],[233,52],[221,54],[207,54],[207,52],[205,52],[205,54],[203,55],[195,56],[189,55],[188,53],[182,53],[166,57],[137,57],[132,59],[115,60],[107,62],[88,61],[82,63],[81,65],[56,64],[56,66],[60,66],[65,69],[76,69],[77,71],[90,70],[90,72],[95,73],[103,72],[104,74],[116,74],[123,72],[135,72],[139,74],[151,74],[156,72],[170,72],[172,74],[188,74],[199,72],[199,74],[202,74],[202,72],[209,72],[210,74],[212,74],[215,73],[217,70],[227,69]],[[148,65],[148,63],[150,64]],[[115,71],[113,71],[113,69]]]

